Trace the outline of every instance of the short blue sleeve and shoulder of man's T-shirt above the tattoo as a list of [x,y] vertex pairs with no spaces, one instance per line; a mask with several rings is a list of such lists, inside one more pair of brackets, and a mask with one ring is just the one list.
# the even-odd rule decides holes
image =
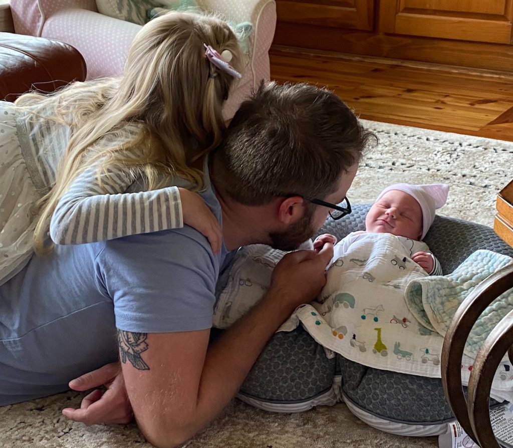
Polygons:
[[[162,230],[107,241],[97,261],[116,326],[159,333],[208,328],[221,255],[196,230]],[[151,306],[148,307],[148,304]]]

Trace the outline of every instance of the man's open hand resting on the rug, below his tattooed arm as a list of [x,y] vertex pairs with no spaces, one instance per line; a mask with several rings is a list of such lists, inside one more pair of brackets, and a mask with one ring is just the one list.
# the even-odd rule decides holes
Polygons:
[[95,389],[82,399],[80,408],[66,407],[62,411],[63,415],[86,425],[130,423],[133,419],[132,407],[125,391],[119,362],[106,364],[69,383],[74,391],[87,391],[101,385],[107,387],[107,391]]

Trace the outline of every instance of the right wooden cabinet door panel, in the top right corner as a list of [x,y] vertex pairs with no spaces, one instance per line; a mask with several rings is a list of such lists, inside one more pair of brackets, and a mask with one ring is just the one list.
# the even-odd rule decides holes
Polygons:
[[511,43],[513,0],[381,0],[380,31]]

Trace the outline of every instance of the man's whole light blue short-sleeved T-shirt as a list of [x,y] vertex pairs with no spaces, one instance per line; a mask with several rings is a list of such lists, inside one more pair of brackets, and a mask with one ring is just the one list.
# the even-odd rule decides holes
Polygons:
[[[212,189],[202,193],[221,221]],[[192,227],[56,246],[0,286],[0,405],[63,392],[118,357],[115,328],[210,328],[225,260]]]

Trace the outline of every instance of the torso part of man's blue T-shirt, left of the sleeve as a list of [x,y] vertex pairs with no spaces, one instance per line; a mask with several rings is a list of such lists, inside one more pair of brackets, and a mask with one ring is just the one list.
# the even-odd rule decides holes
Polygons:
[[114,338],[112,301],[92,263],[102,246],[60,246],[0,287],[0,405],[61,392],[116,359],[116,345],[105,343]]

